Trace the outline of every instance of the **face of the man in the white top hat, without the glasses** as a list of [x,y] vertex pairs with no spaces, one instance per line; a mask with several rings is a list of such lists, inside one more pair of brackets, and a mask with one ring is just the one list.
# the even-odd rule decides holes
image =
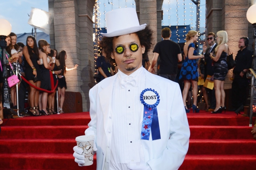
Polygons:
[[[139,46],[138,50],[135,52],[130,51],[128,48],[132,43]],[[145,52],[145,47],[140,44],[139,37],[135,33],[114,37],[113,49],[115,50],[119,45],[128,49],[124,49],[122,54],[117,54],[116,51],[112,51],[111,58],[115,59],[118,69],[121,70],[121,72],[130,75],[142,66],[142,54]]]

